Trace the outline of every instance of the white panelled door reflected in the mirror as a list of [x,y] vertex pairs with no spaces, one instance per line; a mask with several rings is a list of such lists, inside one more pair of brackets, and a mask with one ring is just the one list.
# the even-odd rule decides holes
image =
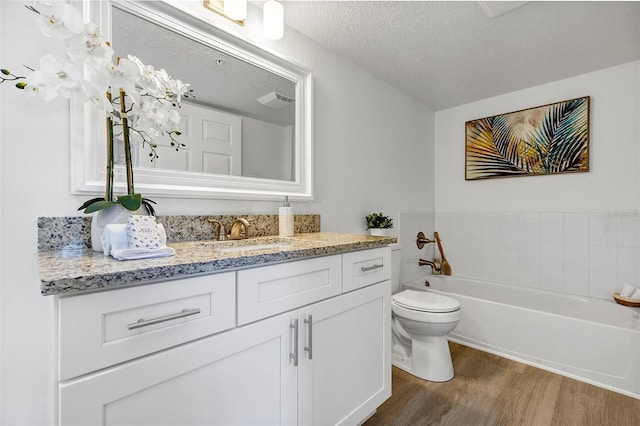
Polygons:
[[176,152],[169,138],[157,141],[158,158],[149,162],[150,150],[141,150],[138,165],[221,175],[242,175],[242,118],[194,104],[182,103],[181,135],[185,144]]

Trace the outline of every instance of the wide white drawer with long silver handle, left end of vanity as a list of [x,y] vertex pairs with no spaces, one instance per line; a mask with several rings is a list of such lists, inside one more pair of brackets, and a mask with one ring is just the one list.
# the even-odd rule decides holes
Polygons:
[[58,300],[60,380],[235,326],[233,272]]

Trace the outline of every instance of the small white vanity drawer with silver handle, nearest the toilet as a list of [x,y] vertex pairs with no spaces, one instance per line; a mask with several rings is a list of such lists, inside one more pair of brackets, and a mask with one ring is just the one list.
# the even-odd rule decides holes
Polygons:
[[345,253],[343,256],[342,291],[391,279],[391,249],[381,247]]

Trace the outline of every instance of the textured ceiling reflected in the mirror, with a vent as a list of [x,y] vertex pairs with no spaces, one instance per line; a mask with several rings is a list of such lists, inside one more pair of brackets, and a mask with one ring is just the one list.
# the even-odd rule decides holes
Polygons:
[[134,52],[143,63],[164,68],[169,75],[191,84],[192,102],[281,126],[294,123],[293,104],[273,109],[257,101],[270,92],[295,98],[295,84],[290,80],[117,7],[112,9],[112,17],[116,56]]

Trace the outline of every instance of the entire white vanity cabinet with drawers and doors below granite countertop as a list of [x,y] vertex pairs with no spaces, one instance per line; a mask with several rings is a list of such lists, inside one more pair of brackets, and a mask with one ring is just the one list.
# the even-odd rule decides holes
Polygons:
[[[362,253],[378,259],[375,264],[382,256],[384,268],[367,269],[374,262],[365,259],[370,281],[348,292],[343,271],[352,268],[352,260],[332,255],[61,297],[59,423],[361,423],[391,395],[390,250]],[[153,296],[156,286],[166,293],[163,297]],[[109,302],[101,306],[100,296]],[[164,300],[169,296],[174,300]],[[145,299],[152,301],[140,303]],[[136,300],[146,307],[136,307]],[[140,309],[148,313],[140,315]],[[182,316],[195,309],[200,312]],[[92,335],[104,332],[95,318],[103,324],[118,318],[127,327],[140,320],[150,324],[134,325],[134,334],[122,332],[117,356],[104,355],[110,342],[101,337],[103,343],[97,344]],[[163,343],[155,342],[154,334]],[[188,340],[176,340],[180,335]],[[92,347],[88,352],[86,342]],[[82,355],[74,357],[75,349],[98,362],[78,361]],[[68,357],[82,366],[69,367]]]

